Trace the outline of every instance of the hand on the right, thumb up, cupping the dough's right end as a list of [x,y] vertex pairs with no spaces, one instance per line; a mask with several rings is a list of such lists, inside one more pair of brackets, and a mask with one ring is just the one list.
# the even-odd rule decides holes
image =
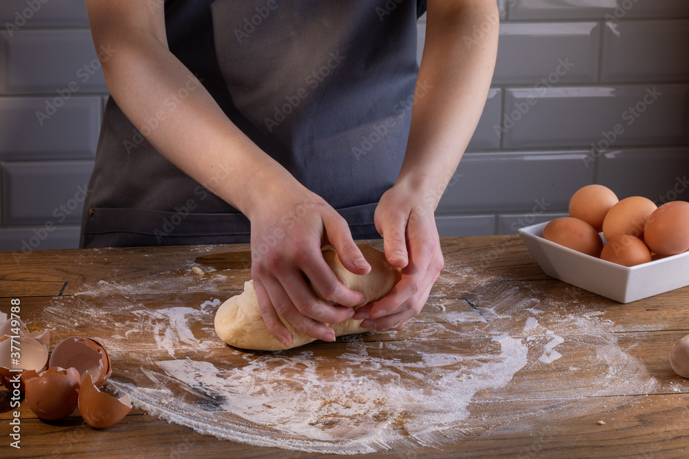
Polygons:
[[402,268],[402,279],[384,298],[359,308],[353,319],[363,328],[400,330],[421,312],[444,266],[433,199],[395,184],[378,202],[374,220],[385,257]]

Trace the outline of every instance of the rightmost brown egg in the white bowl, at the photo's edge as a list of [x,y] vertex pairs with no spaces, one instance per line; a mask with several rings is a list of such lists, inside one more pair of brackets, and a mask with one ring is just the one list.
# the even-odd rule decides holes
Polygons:
[[650,214],[644,228],[644,240],[658,255],[686,252],[689,249],[689,202],[668,202]]

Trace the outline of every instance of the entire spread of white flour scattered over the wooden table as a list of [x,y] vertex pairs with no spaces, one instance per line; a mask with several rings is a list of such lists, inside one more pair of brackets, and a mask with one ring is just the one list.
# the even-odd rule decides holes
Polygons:
[[[539,301],[528,286],[504,283],[468,292],[475,307],[442,297],[442,289],[438,295],[409,334],[352,335],[289,352],[227,348],[212,327],[224,299],[211,295],[196,303],[171,297],[163,308],[149,306],[146,295],[112,295],[99,308],[88,297],[56,297],[39,322],[103,330],[94,338],[112,356],[107,387],[147,413],[224,440],[312,453],[442,447],[581,415],[591,397],[655,386],[644,363],[621,349],[617,325],[597,310],[571,314],[566,298]],[[114,311],[128,319],[114,323]],[[573,350],[590,356],[590,365],[570,366]],[[139,365],[125,371],[121,359]],[[566,377],[524,386],[521,370],[559,361]],[[477,405],[510,401],[526,408],[473,414]]]

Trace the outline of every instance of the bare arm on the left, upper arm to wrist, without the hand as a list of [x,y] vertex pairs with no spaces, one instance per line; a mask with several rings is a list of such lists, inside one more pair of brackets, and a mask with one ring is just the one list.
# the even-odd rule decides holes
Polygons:
[[[131,0],[86,3],[96,49],[114,49],[103,62],[110,93],[167,159],[201,184],[217,182],[212,178],[220,164],[243,177],[224,180],[211,191],[245,215],[270,193],[270,189],[240,186],[245,180],[298,188],[296,180],[230,122],[196,77],[169,52],[162,2],[159,6]],[[154,125],[150,120],[159,121],[154,129],[147,129]],[[232,155],[227,154],[230,150]]]

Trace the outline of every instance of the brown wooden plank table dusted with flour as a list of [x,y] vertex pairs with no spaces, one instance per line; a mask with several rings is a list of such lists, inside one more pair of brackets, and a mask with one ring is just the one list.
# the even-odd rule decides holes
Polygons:
[[[371,458],[689,453],[689,382],[672,372],[667,358],[672,343],[688,333],[689,288],[623,305],[547,277],[518,237],[448,238],[442,245],[446,267],[407,328],[277,355],[228,348],[212,330],[220,301],[241,292],[249,279],[246,245],[0,253],[0,312],[9,312],[10,299],[20,299],[21,318],[51,328],[52,346],[72,335],[101,341],[113,365],[106,392],[141,386],[163,411],[167,404],[198,407],[195,419],[220,419],[221,427],[223,419],[229,427],[241,424],[223,413],[232,396],[209,389],[223,380],[192,380],[210,377],[203,376],[203,365],[215,368],[216,376],[230,375],[233,391],[251,389],[238,396],[244,409],[263,401],[241,427],[258,434],[254,441],[274,444],[281,441],[280,427],[318,415],[302,430],[310,425],[327,436],[351,425],[354,438],[347,442],[357,435],[396,438],[389,444],[321,442],[336,452],[368,447],[376,451],[367,454]],[[276,359],[289,374],[268,371],[265,365]],[[186,387],[179,381],[184,375],[173,381],[161,370],[192,364],[200,372],[188,372]],[[262,373],[247,370],[258,364]],[[280,390],[262,393],[260,384],[247,389],[240,374],[254,377],[247,385],[256,385],[260,374],[266,387],[279,383]],[[266,379],[271,374],[280,381]],[[362,389],[348,389],[353,381]],[[156,396],[173,386],[169,398]],[[278,406],[294,403],[294,394],[302,401],[286,411]],[[271,397],[276,406],[265,403]],[[78,410],[48,422],[25,403],[19,408],[21,449],[14,449],[7,391],[0,392],[0,407],[0,457],[323,456],[219,440],[138,408],[96,430]],[[274,413],[288,419],[276,415],[274,423],[256,425]],[[377,426],[385,432],[378,437]],[[298,445],[319,444],[307,440]]]

